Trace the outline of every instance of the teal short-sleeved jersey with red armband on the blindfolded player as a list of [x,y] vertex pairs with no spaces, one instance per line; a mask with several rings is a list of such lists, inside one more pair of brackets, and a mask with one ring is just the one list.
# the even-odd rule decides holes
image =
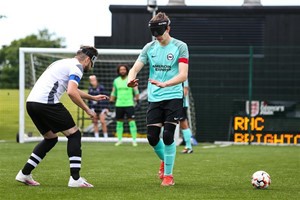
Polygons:
[[[146,44],[138,57],[138,60],[145,65],[149,64],[149,78],[159,82],[166,82],[177,76],[179,63],[188,63],[188,59],[187,44],[175,38],[172,38],[167,46],[161,46],[157,40]],[[182,83],[160,88],[148,82],[149,102],[182,98]]]

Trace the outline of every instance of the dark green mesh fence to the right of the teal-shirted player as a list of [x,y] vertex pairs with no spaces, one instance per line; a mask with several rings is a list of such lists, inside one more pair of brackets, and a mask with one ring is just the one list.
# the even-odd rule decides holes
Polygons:
[[197,140],[226,141],[234,101],[300,100],[300,47],[192,47],[189,81]]

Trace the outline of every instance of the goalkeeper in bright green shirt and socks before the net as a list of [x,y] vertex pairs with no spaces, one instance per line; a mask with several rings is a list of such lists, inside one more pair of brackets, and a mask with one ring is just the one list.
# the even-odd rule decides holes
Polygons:
[[113,82],[113,88],[110,95],[110,102],[115,102],[116,108],[116,132],[118,142],[115,146],[122,144],[123,125],[124,120],[127,118],[129,130],[132,137],[132,145],[137,146],[136,136],[137,127],[135,123],[134,105],[139,105],[139,90],[138,87],[127,87],[127,75],[129,68],[127,65],[122,64],[117,68],[118,77]]

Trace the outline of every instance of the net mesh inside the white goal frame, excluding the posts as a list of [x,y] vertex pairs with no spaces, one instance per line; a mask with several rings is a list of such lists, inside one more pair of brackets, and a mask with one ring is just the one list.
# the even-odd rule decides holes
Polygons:
[[[128,51],[128,53],[126,53]],[[46,68],[54,61],[63,58],[72,58],[75,56],[75,52],[70,53],[66,52],[39,52],[38,49],[35,49],[34,52],[25,51],[24,52],[24,100],[26,101],[30,90],[34,86],[35,82],[39,76],[46,70]],[[120,53],[121,52],[121,53]],[[99,56],[95,63],[95,67],[92,71],[85,73],[83,78],[80,81],[79,88],[87,92],[89,87],[89,76],[96,75],[99,84],[102,84],[105,88],[105,93],[110,95],[113,85],[113,80],[118,76],[117,66],[119,64],[127,64],[132,66],[137,59],[139,50],[99,50]],[[146,111],[147,111],[147,81],[149,75],[149,66],[146,65],[138,74],[139,79],[139,91],[140,91],[140,102],[141,108],[135,112],[136,124],[138,130],[138,138],[146,138]],[[194,127],[195,125],[195,114],[194,110],[194,101],[192,98],[192,93],[190,91],[190,109],[189,109],[189,122],[192,128],[193,133],[196,133]],[[65,107],[70,111],[76,125],[81,129],[84,137],[93,137],[93,124],[92,120],[85,114],[83,110],[77,107],[72,101],[68,98],[68,95],[63,95],[61,102]],[[25,109],[25,102],[24,107]],[[115,137],[115,127],[116,123],[114,120],[115,113],[114,109],[110,110],[109,115],[106,118],[108,134],[110,138]],[[26,110],[24,110],[24,140],[30,139],[30,137],[40,136],[39,131],[36,129],[35,125],[28,116]],[[99,124],[99,133],[102,135],[101,123]],[[61,135],[62,136],[62,135]],[[124,138],[130,138],[129,126],[128,123],[124,123]]]

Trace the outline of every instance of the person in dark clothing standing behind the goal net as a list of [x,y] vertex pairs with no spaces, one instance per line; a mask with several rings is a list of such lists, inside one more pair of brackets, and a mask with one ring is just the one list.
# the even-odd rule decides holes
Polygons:
[[[105,88],[103,85],[98,83],[97,77],[95,75],[91,75],[89,77],[90,81],[90,87],[88,94],[95,96],[99,94],[107,94],[105,92]],[[99,128],[98,128],[98,120],[100,119],[101,127],[102,127],[102,132],[103,132],[103,137],[107,138],[107,125],[105,118],[108,113],[108,105],[109,102],[104,100],[104,101],[88,101],[88,105],[91,110],[94,110],[96,113],[96,117],[93,118],[93,124],[94,124],[94,135],[96,138],[99,138]]]

